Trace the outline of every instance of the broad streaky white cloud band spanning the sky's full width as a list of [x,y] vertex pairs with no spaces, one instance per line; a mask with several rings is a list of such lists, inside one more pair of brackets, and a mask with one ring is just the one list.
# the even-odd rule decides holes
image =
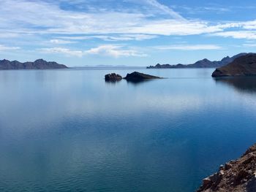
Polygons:
[[[63,36],[79,36],[69,37],[70,40],[102,39],[104,41],[144,40],[157,38],[160,35],[185,36],[212,33],[219,37],[255,38],[255,33],[252,31],[242,31],[240,34],[241,30],[239,32],[225,30],[228,28],[252,30],[256,28],[256,20],[214,25],[202,20],[185,19],[156,0],[127,1],[135,4],[143,3],[144,6],[157,9],[158,14],[164,12],[169,17],[162,18],[145,12],[132,12],[129,9],[74,12],[61,9],[58,3],[52,4],[49,1],[1,0],[0,32],[10,34],[10,31],[15,29],[16,34],[34,36],[63,34]],[[52,43],[67,44],[69,42],[53,39]]]

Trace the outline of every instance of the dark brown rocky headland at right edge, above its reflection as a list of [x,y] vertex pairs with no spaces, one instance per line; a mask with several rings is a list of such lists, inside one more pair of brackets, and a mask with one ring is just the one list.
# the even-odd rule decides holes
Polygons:
[[211,76],[256,76],[256,53],[248,53],[236,58],[230,64],[217,68]]

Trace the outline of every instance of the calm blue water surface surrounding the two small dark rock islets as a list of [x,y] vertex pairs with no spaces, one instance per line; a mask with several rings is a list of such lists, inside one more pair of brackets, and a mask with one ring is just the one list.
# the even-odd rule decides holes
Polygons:
[[1,71],[0,191],[195,191],[255,142],[255,78],[132,71]]

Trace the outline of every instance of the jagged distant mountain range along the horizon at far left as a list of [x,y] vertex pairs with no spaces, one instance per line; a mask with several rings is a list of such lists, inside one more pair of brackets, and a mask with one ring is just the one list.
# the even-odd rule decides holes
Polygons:
[[37,59],[34,62],[21,63],[19,61],[0,60],[0,70],[7,69],[67,69],[68,67],[56,62],[48,62],[43,59]]

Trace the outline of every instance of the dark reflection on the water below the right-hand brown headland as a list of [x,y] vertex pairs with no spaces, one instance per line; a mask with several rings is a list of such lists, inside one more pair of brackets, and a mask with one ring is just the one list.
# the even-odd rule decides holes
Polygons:
[[226,77],[215,79],[217,83],[223,83],[242,92],[256,92],[256,77]]

